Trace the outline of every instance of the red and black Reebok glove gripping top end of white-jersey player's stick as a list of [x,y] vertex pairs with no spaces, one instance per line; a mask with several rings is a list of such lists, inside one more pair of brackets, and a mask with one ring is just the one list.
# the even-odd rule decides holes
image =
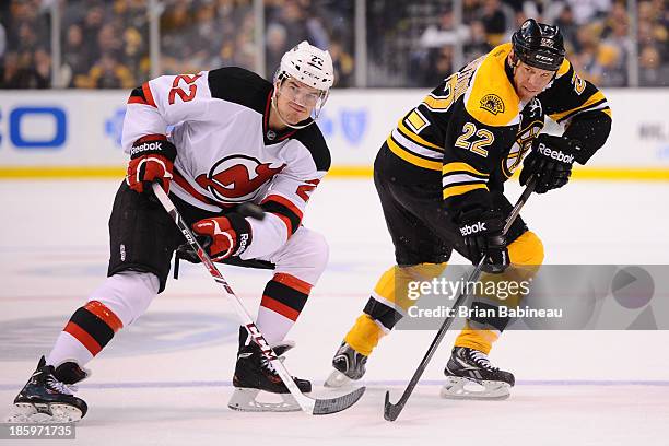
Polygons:
[[144,137],[130,150],[126,183],[130,189],[151,193],[151,184],[160,181],[169,193],[169,181],[176,159],[176,148],[163,136]]

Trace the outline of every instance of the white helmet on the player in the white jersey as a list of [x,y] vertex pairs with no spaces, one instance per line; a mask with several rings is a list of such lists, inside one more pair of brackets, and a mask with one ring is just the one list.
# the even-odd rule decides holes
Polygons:
[[334,83],[330,52],[309,45],[306,40],[301,42],[281,58],[274,82],[283,80],[286,75],[327,92]]

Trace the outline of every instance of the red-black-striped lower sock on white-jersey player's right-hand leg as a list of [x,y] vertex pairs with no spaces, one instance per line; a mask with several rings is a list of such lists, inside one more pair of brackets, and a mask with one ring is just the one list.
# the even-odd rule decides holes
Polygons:
[[278,272],[267,283],[256,325],[274,345],[283,340],[306,304],[312,285],[294,275]]

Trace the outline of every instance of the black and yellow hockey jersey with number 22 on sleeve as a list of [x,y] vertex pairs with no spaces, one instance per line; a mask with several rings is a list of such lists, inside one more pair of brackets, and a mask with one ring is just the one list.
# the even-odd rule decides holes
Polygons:
[[555,79],[524,104],[507,62],[512,44],[500,45],[434,89],[400,119],[375,168],[404,184],[442,181],[446,206],[480,201],[503,190],[549,116],[565,124],[565,136],[580,142],[585,164],[603,145],[611,109],[603,94],[564,60]]

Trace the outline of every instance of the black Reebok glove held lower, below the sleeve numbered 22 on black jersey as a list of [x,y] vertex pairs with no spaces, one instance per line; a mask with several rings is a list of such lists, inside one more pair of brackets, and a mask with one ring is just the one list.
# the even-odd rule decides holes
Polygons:
[[483,271],[504,272],[509,260],[503,234],[504,220],[500,213],[480,209],[463,212],[458,219],[458,227],[465,238],[467,257],[473,265],[485,257]]

